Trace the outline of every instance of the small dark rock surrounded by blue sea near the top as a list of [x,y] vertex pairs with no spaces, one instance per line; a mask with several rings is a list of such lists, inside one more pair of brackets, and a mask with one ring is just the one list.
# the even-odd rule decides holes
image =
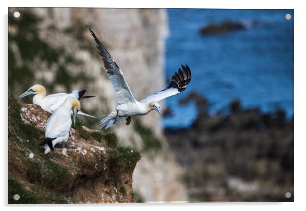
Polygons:
[[244,25],[242,23],[236,23],[232,21],[225,21],[221,24],[210,24],[201,28],[200,33],[202,35],[207,34],[222,34],[229,31],[241,30],[244,29]]

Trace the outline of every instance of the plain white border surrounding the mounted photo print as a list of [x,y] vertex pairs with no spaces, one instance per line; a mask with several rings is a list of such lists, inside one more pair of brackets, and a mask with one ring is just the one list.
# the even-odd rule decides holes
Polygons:
[[[155,0],[155,1],[21,1],[21,0],[10,0],[1,1],[2,21],[1,28],[1,46],[3,47],[1,53],[1,64],[3,69],[1,71],[2,80],[2,94],[1,94],[1,135],[2,135],[2,156],[3,168],[1,174],[1,186],[2,191],[0,192],[0,200],[3,206],[7,205],[7,179],[8,179],[8,7],[121,7],[121,8],[235,8],[235,9],[294,9],[294,202],[243,202],[243,203],[162,203],[162,204],[90,204],[90,205],[56,205],[56,207],[73,206],[76,210],[95,209],[101,210],[101,208],[112,208],[112,209],[125,209],[125,210],[156,210],[169,209],[175,207],[177,210],[186,210],[186,208],[192,209],[217,209],[217,210],[256,210],[259,209],[277,209],[277,210],[300,210],[304,205],[305,196],[305,135],[303,130],[306,126],[303,124],[303,120],[306,118],[306,81],[305,81],[305,21],[306,11],[303,8],[302,1],[203,1],[189,0],[184,2],[177,2],[174,0]],[[26,208],[31,210],[41,210],[41,206],[44,206],[44,210],[54,210],[55,205],[27,205]],[[9,206],[6,209],[20,209],[19,206]]]

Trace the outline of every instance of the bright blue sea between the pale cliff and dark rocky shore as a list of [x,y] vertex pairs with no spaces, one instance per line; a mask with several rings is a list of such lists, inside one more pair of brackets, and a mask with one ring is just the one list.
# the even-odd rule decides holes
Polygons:
[[[187,127],[196,118],[194,103],[179,99],[197,91],[209,102],[209,112],[226,112],[239,99],[243,108],[262,112],[276,108],[293,116],[293,10],[168,9],[166,77],[187,64],[192,80],[187,89],[166,99],[171,117],[165,127]],[[291,19],[285,18],[291,14]],[[226,20],[246,29],[201,36],[199,30]]]

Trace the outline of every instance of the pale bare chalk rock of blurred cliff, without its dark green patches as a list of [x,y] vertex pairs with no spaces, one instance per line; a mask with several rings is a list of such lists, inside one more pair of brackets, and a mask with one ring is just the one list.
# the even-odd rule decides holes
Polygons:
[[[96,50],[80,48],[72,34],[64,33],[66,29],[78,28],[83,24],[94,30],[105,44],[116,63],[125,73],[126,80],[136,99],[142,99],[165,88],[164,62],[165,39],[168,34],[167,14],[164,9],[94,9],[94,8],[33,8],[34,13],[44,18],[40,24],[40,36],[52,46],[65,46],[71,54],[82,60],[83,64],[70,67],[74,74],[82,73],[93,77],[89,84],[74,84],[74,89],[85,87],[95,100],[82,101],[82,107],[97,111],[97,117],[116,107],[117,101],[110,81],[101,71],[103,62]],[[20,12],[22,15],[22,11]],[[55,26],[59,32],[50,31]],[[89,31],[82,32],[84,42],[94,40]],[[93,46],[91,46],[93,49]],[[36,74],[37,81],[50,80],[52,68],[36,62],[36,69],[44,69],[44,74]],[[45,74],[49,73],[49,74]],[[47,79],[46,79],[46,78]],[[61,86],[57,91],[63,91]],[[162,102],[162,108],[164,103]],[[95,114],[93,114],[95,115]],[[124,145],[141,147],[140,135],[134,130],[135,118],[126,126],[116,125],[117,132]],[[174,162],[171,150],[162,134],[161,115],[151,112],[140,121],[152,128],[162,141],[162,150],[147,153],[137,164],[133,174],[134,191],[144,201],[187,201],[186,191],[178,181],[180,168]],[[97,121],[98,122],[98,121]]]

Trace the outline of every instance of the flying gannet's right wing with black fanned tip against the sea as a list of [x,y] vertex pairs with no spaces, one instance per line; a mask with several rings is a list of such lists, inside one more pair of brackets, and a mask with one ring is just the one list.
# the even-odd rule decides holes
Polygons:
[[187,84],[191,80],[191,72],[187,65],[182,66],[182,70],[179,68],[178,73],[175,73],[172,76],[172,80],[169,86],[162,91],[156,92],[152,95],[149,95],[140,102],[148,104],[153,101],[160,101],[164,98],[170,97],[172,95],[178,94],[186,89]]

